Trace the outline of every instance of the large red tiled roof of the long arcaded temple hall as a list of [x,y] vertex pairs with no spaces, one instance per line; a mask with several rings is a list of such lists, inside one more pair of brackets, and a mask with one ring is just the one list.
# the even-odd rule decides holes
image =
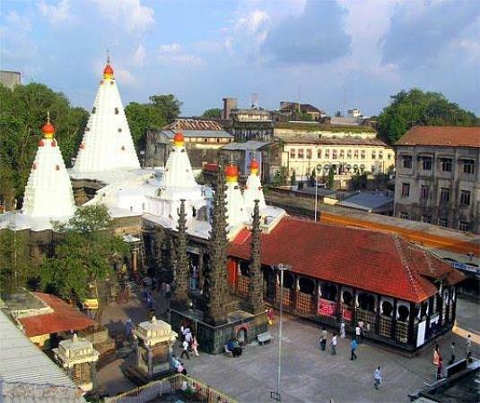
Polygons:
[[[398,236],[310,220],[285,218],[261,235],[262,263],[286,263],[292,271],[385,296],[421,302],[438,292],[432,281],[463,276]],[[229,254],[249,259],[250,236],[240,232]]]

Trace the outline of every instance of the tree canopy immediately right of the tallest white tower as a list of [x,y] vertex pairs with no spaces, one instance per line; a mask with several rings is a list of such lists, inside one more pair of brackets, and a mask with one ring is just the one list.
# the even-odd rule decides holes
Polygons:
[[174,122],[180,115],[182,102],[174,95],[152,95],[149,99],[149,103],[130,102],[125,107],[128,125],[137,149],[143,144],[145,132],[149,127],[161,128]]

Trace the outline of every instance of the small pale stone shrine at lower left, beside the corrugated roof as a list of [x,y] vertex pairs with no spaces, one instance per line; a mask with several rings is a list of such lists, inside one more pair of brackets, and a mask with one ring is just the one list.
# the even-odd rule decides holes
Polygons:
[[99,360],[100,353],[89,340],[79,338],[75,333],[72,339],[60,341],[53,352],[57,363],[65,368],[68,376],[81,390],[93,389],[97,373],[95,363]]

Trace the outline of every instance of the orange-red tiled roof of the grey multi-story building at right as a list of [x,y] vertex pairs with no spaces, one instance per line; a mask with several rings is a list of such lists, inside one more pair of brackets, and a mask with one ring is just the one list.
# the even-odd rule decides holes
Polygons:
[[480,147],[480,126],[415,126],[395,145]]

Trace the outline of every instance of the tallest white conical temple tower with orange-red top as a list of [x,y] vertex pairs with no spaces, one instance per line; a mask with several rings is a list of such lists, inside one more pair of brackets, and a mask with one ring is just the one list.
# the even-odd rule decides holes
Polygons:
[[134,141],[108,59],[72,171],[86,174],[138,168]]

